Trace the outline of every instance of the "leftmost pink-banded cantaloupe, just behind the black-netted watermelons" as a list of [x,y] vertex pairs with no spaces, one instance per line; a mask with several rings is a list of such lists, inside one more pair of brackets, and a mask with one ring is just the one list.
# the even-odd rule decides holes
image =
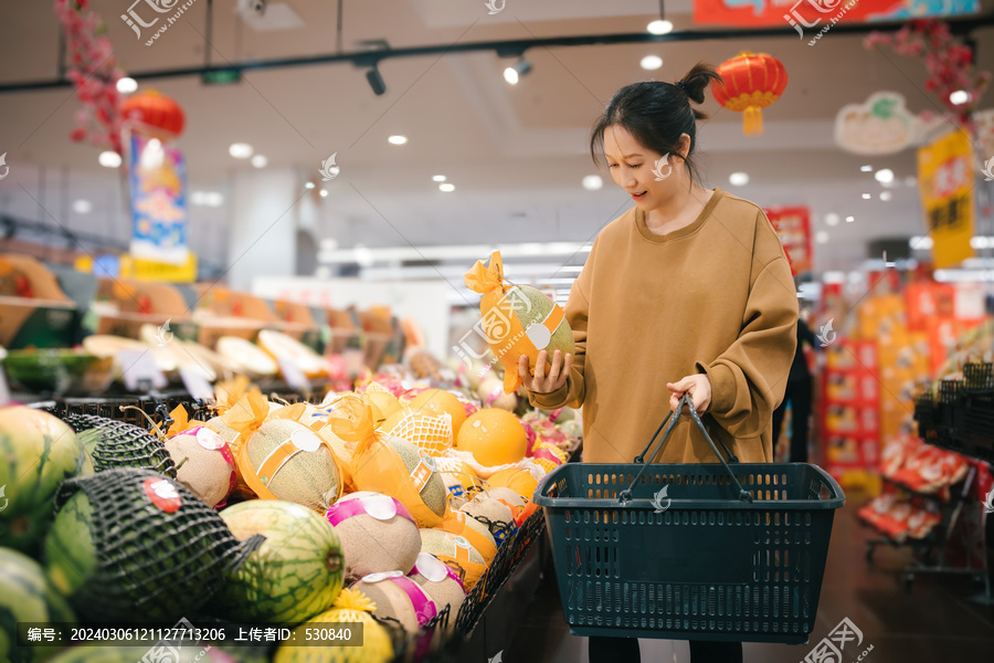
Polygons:
[[172,435],[166,451],[176,463],[177,481],[208,506],[216,506],[235,488],[234,457],[224,438],[211,429],[198,425]]

